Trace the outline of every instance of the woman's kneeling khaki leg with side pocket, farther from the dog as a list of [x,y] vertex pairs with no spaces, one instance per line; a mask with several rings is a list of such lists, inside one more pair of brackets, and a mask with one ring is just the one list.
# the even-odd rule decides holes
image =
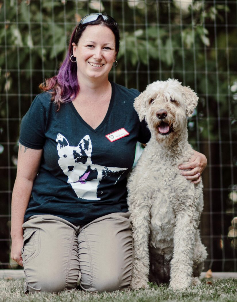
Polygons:
[[74,226],[53,215],[35,215],[23,228],[24,291],[58,293],[76,289],[79,259]]

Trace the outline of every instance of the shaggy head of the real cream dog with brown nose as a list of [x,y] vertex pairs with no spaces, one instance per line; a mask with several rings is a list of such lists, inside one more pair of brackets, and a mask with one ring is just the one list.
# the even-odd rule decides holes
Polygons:
[[186,117],[191,116],[198,104],[196,93],[178,80],[156,81],[148,85],[134,101],[139,119],[144,118],[159,143],[169,145],[181,129]]

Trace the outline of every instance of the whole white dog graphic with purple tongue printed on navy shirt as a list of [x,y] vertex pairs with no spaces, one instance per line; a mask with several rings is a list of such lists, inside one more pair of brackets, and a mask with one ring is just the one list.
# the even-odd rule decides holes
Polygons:
[[97,197],[100,181],[110,175],[118,174],[117,182],[127,170],[127,168],[94,165],[91,162],[92,143],[89,135],[84,136],[78,146],[69,146],[68,140],[60,133],[57,135],[56,142],[58,165],[68,176],[68,183],[78,198],[100,200]]

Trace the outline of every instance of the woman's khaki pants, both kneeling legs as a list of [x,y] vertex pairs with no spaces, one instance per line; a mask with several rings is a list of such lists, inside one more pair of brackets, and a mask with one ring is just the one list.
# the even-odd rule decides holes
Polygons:
[[53,215],[35,215],[23,228],[25,292],[75,290],[79,271],[84,290],[114,291],[129,286],[129,213],[109,214],[84,226]]

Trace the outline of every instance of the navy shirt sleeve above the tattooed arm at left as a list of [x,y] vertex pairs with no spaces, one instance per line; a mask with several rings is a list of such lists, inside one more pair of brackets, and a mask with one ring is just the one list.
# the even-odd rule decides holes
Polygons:
[[31,149],[43,149],[45,143],[46,110],[37,95],[22,118],[19,143]]

